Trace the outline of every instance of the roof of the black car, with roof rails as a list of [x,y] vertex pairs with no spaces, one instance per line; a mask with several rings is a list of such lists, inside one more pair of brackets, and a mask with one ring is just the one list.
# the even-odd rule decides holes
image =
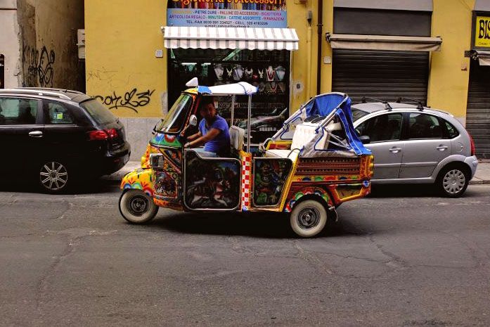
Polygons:
[[50,87],[19,87],[15,89],[0,89],[0,96],[34,96],[36,98],[51,98],[80,103],[91,99],[91,96],[68,89],[53,89]]

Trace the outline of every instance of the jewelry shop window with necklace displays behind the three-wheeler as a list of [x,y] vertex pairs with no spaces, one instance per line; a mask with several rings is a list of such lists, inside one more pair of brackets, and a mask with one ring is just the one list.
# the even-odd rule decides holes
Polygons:
[[[289,115],[290,51],[233,49],[169,49],[168,92],[172,105],[186,82],[198,77],[203,86],[248,82],[252,96],[252,143],[258,144],[281,129]],[[214,97],[217,111],[231,126],[231,96]],[[247,96],[236,96],[233,124],[247,128]]]

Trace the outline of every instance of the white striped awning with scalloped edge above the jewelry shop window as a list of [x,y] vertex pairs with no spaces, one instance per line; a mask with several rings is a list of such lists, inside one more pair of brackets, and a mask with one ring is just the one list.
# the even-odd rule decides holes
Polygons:
[[167,49],[297,50],[292,28],[163,27]]

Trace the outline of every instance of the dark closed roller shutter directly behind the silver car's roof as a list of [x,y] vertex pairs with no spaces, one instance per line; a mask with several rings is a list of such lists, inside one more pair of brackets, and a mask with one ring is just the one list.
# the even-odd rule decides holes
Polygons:
[[429,53],[334,49],[332,75],[333,91],[349,94],[353,103],[370,96],[385,101],[407,97],[426,104]]

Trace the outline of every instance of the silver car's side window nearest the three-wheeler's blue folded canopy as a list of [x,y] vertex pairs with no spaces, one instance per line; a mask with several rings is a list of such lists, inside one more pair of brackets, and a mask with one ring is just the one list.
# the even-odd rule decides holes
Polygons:
[[359,136],[369,136],[370,142],[397,141],[401,135],[401,113],[379,115],[357,127]]

